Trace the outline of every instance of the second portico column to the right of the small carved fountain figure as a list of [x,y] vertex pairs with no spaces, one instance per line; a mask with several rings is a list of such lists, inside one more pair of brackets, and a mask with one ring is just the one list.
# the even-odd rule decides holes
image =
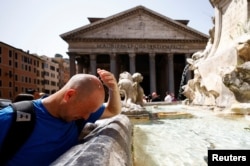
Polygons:
[[174,87],[174,61],[173,61],[174,54],[168,54],[168,89],[169,92],[175,92]]

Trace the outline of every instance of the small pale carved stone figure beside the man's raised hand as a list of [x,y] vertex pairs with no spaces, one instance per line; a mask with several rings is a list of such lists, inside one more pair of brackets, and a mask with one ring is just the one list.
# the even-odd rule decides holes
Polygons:
[[140,86],[142,80],[143,76],[140,73],[134,73],[132,76],[125,71],[119,75],[118,87],[125,103],[143,104],[144,91]]

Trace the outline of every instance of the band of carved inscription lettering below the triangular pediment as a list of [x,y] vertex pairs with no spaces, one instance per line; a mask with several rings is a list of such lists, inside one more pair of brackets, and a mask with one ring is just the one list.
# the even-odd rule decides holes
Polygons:
[[114,43],[103,43],[97,44],[96,48],[116,48],[116,49],[183,49],[184,45],[174,44],[114,44]]

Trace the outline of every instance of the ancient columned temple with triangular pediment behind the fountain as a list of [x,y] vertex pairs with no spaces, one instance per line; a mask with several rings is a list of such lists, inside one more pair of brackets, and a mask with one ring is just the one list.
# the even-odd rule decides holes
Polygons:
[[[183,13],[184,14],[184,13]],[[203,50],[208,36],[144,6],[107,18],[88,18],[90,23],[61,35],[68,43],[70,75],[97,68],[119,74],[139,72],[146,95],[166,91],[178,95],[186,58]],[[185,81],[192,77],[186,75]]]

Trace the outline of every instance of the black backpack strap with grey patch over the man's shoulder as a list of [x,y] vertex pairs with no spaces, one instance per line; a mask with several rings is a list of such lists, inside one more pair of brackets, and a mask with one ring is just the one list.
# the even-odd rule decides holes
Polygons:
[[0,149],[0,165],[9,161],[32,133],[36,115],[32,101],[12,103],[13,119]]

